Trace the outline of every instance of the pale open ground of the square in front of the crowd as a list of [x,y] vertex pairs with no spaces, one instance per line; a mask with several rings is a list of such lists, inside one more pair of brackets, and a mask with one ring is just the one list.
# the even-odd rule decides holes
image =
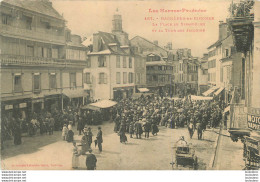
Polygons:
[[[93,134],[96,135],[97,126],[91,127]],[[98,170],[170,170],[172,169],[170,163],[174,158],[173,146],[180,136],[184,136],[195,148],[199,169],[210,169],[218,136],[214,130],[205,131],[203,140],[198,140],[197,132],[193,139],[189,139],[187,128],[169,129],[160,126],[158,136],[135,139],[127,135],[128,142],[121,144],[119,136],[113,132],[113,127],[113,123],[102,125],[104,140],[102,153],[99,153],[92,144],[93,153],[98,160]],[[75,131],[77,142],[81,137]],[[72,143],[62,141],[61,132],[55,132],[51,136],[23,137],[22,140],[23,144],[19,146],[14,146],[12,141],[5,144],[5,149],[2,151],[2,169],[72,169]],[[80,168],[85,168],[85,156],[80,157]]]

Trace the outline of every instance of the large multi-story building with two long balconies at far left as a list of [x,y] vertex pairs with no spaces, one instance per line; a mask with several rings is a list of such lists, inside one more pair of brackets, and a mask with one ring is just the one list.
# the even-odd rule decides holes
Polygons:
[[4,0],[0,19],[3,114],[62,109],[65,91],[84,96],[84,56],[66,59],[70,32],[51,2]]

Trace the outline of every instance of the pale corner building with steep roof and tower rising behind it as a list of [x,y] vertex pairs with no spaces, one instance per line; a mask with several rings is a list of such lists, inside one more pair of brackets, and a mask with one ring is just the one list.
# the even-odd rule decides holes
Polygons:
[[112,20],[112,33],[93,35],[93,50],[88,53],[88,66],[84,70],[84,88],[93,99],[122,99],[134,92],[135,57],[122,29],[121,15]]

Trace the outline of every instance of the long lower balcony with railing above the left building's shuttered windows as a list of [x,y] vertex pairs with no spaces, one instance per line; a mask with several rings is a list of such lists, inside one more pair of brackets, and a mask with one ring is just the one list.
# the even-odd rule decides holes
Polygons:
[[86,67],[86,62],[84,61],[8,54],[0,54],[0,63],[1,66],[76,67],[82,69]]

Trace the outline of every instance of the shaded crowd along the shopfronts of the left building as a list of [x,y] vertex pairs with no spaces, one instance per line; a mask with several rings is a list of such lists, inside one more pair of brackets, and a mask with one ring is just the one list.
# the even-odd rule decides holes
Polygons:
[[[15,145],[20,145],[22,136],[52,135],[53,131],[64,130],[65,136],[65,133],[69,132],[68,127],[76,124],[77,130],[81,134],[85,125],[99,125],[107,119],[106,115],[99,110],[82,110],[80,108],[68,106],[66,109],[54,109],[51,112],[42,110],[39,113],[28,114],[26,117],[17,113],[2,115],[1,143],[13,139]],[[68,131],[65,131],[64,126]]]

